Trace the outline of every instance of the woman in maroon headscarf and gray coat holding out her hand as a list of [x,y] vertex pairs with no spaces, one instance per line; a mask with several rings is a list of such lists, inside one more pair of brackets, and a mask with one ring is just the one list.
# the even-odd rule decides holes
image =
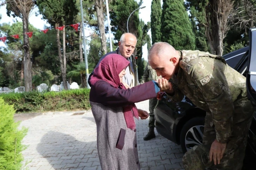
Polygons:
[[156,98],[158,84],[149,81],[126,89],[122,83],[129,62],[118,54],[105,57],[91,77],[90,104],[97,125],[97,148],[102,170],[138,170],[134,117],[148,113],[134,103]]

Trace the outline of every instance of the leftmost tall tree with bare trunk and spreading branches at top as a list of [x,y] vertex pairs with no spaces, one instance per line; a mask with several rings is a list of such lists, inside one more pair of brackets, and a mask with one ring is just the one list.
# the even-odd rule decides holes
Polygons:
[[35,0],[5,0],[2,5],[6,4],[7,15],[10,17],[11,13],[13,17],[19,17],[23,22],[23,49],[24,49],[24,73],[25,73],[25,91],[32,90],[32,62],[30,60],[29,52],[29,15],[32,8],[35,6]]

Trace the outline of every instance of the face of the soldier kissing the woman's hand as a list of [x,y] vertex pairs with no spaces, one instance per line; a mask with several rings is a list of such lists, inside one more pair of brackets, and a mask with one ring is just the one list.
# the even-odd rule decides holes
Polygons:
[[161,56],[159,58],[156,54],[152,54],[152,59],[149,61],[149,64],[156,70],[157,76],[161,75],[166,80],[170,80],[175,72],[175,66],[168,56]]

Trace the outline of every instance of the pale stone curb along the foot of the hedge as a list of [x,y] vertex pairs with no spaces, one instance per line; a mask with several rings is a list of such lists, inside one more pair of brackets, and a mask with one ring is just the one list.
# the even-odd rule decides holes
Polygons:
[[90,110],[80,110],[80,111],[63,111],[63,112],[37,112],[37,113],[16,113],[14,114],[14,118],[19,117],[35,117],[40,115],[60,115],[60,114],[78,114],[78,113],[86,113]]

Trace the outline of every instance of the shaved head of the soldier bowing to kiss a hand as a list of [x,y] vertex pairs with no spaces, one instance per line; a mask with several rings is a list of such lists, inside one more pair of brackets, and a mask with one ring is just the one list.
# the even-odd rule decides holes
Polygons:
[[178,70],[179,53],[170,44],[154,43],[148,51],[148,63],[156,70],[157,76],[169,80]]

